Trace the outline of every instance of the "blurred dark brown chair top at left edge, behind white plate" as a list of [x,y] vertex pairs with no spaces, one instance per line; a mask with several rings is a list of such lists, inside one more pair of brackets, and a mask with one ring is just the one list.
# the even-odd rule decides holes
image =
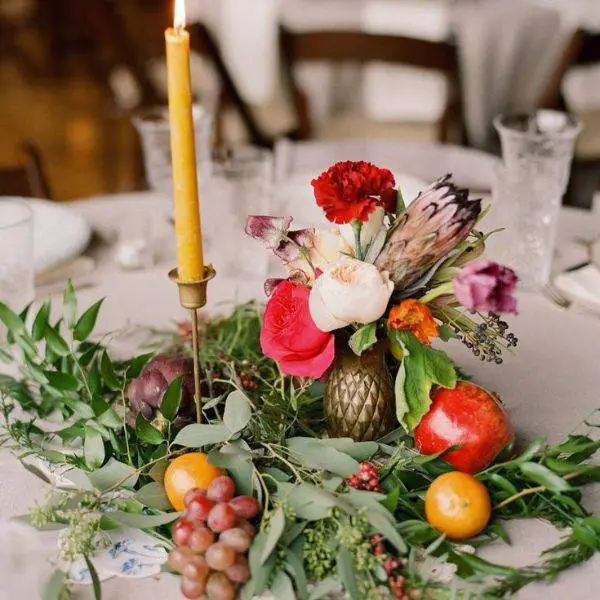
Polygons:
[[25,196],[52,200],[40,152],[23,144],[16,165],[0,166],[0,196]]

